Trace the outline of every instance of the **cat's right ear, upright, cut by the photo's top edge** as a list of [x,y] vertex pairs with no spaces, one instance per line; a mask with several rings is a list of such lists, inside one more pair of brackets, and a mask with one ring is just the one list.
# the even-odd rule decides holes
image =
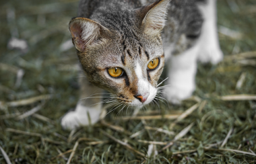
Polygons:
[[160,34],[164,28],[167,7],[170,0],[158,0],[148,6],[137,9],[139,23],[146,34]]

